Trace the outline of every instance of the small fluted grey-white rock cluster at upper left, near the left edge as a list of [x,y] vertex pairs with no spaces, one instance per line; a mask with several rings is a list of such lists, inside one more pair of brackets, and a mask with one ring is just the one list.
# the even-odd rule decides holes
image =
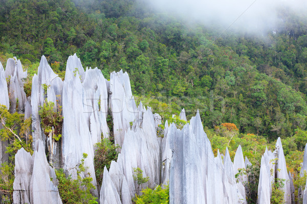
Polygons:
[[10,112],[14,113],[18,111],[19,113],[23,113],[25,111],[27,97],[22,79],[27,78],[27,71],[23,71],[20,60],[17,60],[15,57],[14,59],[8,59],[5,68],[5,78],[10,83],[8,87],[11,103]]

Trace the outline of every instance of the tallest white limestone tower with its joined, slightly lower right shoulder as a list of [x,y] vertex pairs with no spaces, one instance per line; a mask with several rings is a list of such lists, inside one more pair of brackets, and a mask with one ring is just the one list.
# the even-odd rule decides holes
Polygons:
[[[64,169],[76,177],[75,167],[87,154],[84,162],[93,177],[94,144],[101,141],[101,135],[108,137],[106,124],[107,86],[100,70],[84,69],[80,59],[74,55],[67,61],[65,80],[63,82],[63,136],[62,156]],[[94,194],[98,196],[98,191]]]

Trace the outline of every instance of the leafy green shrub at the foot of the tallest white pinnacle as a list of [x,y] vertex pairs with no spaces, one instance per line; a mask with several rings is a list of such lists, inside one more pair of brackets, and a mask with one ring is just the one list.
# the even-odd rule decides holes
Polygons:
[[[89,173],[86,173],[88,167],[84,166],[84,160],[87,155],[83,154],[77,170],[77,179],[73,180],[71,176],[66,177],[63,169],[55,171],[57,180],[59,181],[58,190],[63,203],[91,203],[97,204],[97,198],[91,194],[91,190],[96,187],[91,183],[93,178]],[[81,177],[84,175],[84,177]]]

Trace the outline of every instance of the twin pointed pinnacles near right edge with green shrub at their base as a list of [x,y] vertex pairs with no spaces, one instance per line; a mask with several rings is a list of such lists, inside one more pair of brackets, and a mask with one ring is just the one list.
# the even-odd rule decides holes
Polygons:
[[272,184],[275,182],[275,179],[283,179],[285,181],[282,189],[284,191],[284,200],[287,204],[291,204],[291,183],[280,138],[277,139],[275,151],[271,152],[266,149],[265,154],[261,158],[258,184],[259,204],[270,203]]

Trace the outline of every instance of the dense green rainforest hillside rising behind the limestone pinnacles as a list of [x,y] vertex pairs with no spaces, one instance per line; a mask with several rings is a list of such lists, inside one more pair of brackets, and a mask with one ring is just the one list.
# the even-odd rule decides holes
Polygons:
[[0,60],[20,59],[29,83],[41,55],[63,78],[76,53],[106,78],[127,71],[137,100],[164,119],[182,108],[189,119],[199,109],[215,153],[228,146],[233,158],[241,144],[259,165],[265,145],[281,137],[289,169],[299,171],[307,142],[305,16],[280,10],[282,23],[253,35],[187,23],[132,0],[0,4]]

